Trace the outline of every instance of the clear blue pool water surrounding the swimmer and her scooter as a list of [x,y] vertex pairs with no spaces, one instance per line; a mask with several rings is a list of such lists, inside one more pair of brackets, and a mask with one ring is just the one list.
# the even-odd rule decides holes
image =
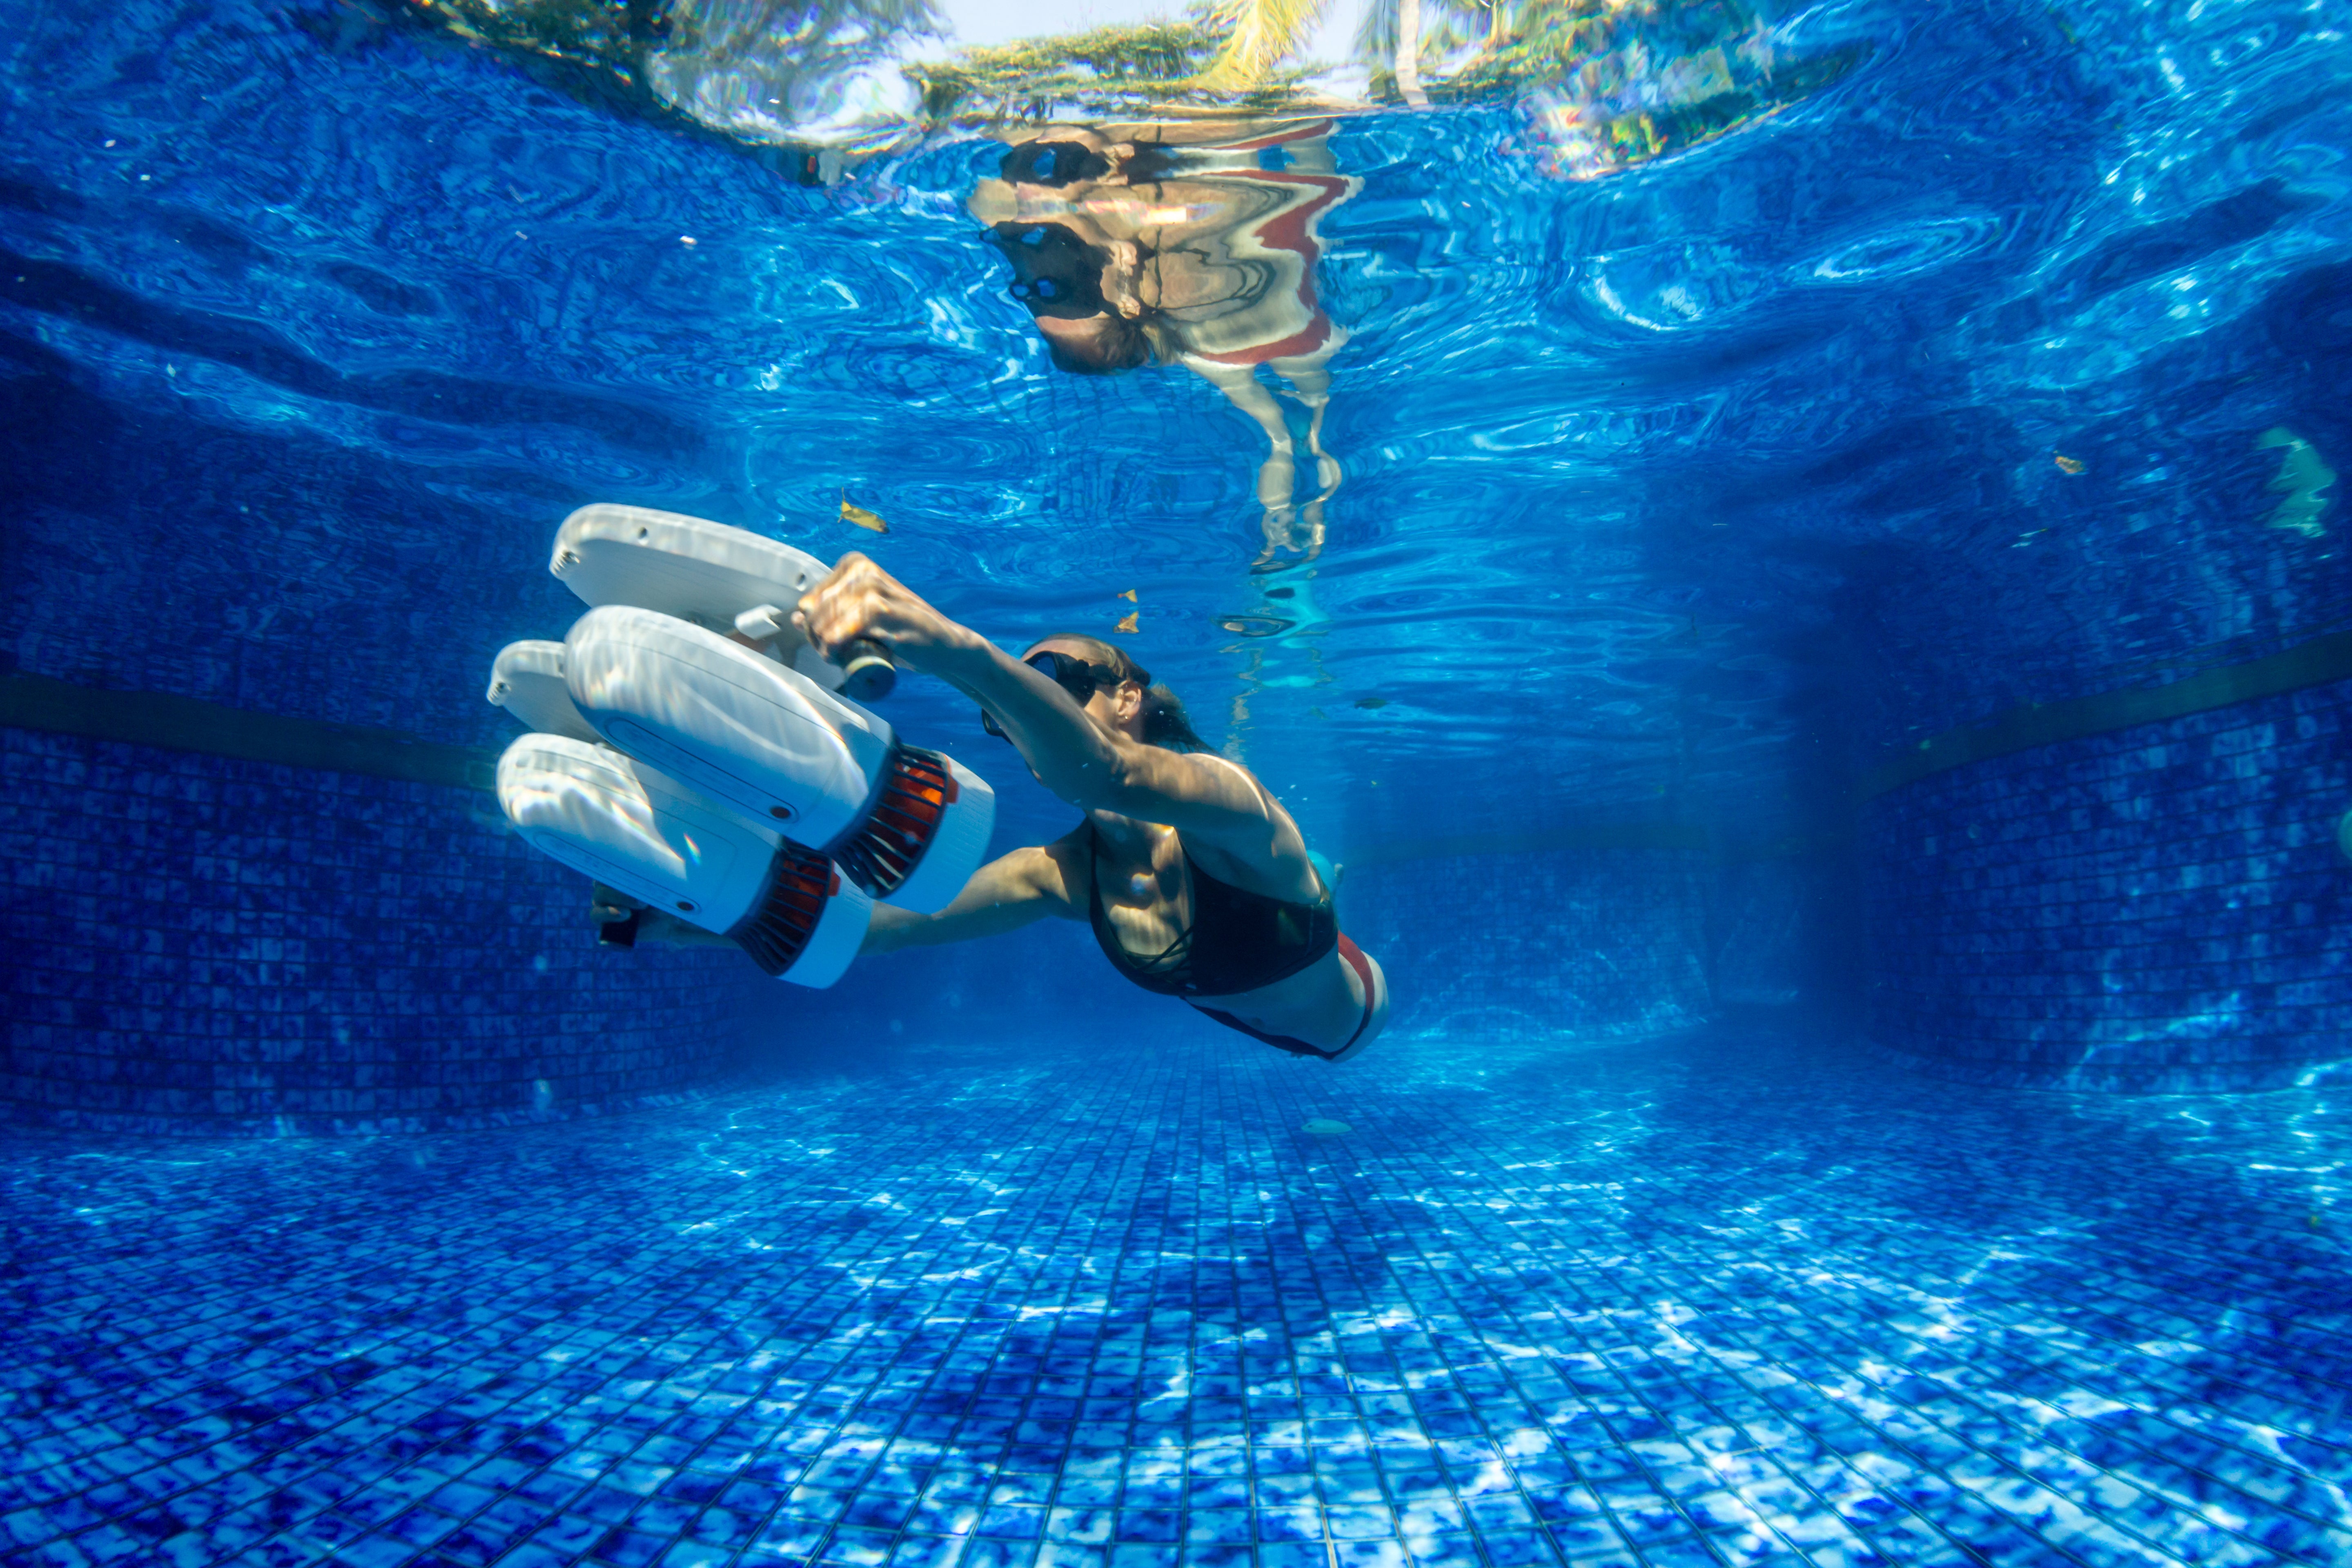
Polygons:
[[[1606,146],[1287,127],[1282,477],[1056,369],[1002,127],[430,9],[0,14],[0,1561],[2352,1561],[2343,16],[1611,7]],[[600,952],[456,783],[588,501],[1122,639],[1390,1037]]]

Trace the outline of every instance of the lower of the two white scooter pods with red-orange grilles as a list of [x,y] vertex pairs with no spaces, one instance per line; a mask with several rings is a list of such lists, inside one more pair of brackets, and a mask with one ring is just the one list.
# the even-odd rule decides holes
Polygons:
[[602,745],[522,736],[499,757],[499,806],[532,849],[727,936],[769,976],[833,985],[866,940],[873,900],[821,853],[649,790]]

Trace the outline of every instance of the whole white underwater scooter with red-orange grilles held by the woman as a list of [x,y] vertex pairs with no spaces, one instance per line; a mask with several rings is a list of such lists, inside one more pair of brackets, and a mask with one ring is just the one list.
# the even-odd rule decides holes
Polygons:
[[870,644],[826,663],[793,630],[823,562],[588,505],[550,571],[593,609],[560,644],[501,649],[489,682],[536,731],[499,759],[499,804],[532,846],[818,987],[856,957],[873,898],[929,914],[971,879],[995,792],[837,693],[894,672]]

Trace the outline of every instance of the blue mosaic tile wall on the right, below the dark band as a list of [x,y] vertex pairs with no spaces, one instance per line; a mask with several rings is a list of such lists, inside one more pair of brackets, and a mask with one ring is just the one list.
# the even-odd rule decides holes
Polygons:
[[1872,1037],[1938,1072],[2274,1088],[2352,1056],[2352,682],[1872,802]]

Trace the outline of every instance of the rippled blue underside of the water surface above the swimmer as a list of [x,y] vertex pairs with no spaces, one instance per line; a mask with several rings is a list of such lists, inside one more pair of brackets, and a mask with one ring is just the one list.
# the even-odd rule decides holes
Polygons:
[[[26,477],[38,672],[492,743],[489,654],[562,628],[539,557],[602,496],[873,548],[1004,639],[1134,609],[1214,738],[1341,780],[1331,839],[1428,797],[1524,825],[1522,769],[1555,825],[1762,832],[1799,738],[1867,757],[2345,602],[2326,541],[2260,536],[2249,442],[2347,430],[2288,364],[2352,341],[2352,49],[2307,7],[1788,12],[1867,59],[1595,181],[1515,108],[1343,122],[1312,562],[1265,559],[1261,437],[1211,388],[1047,364],[964,212],[993,141],[800,188],[433,38],[336,54],[238,2],[0,28],[5,386],[64,374],[33,416],[155,451]],[[216,548],[143,552],[141,505]],[[414,696],[273,686],[256,646]]]

